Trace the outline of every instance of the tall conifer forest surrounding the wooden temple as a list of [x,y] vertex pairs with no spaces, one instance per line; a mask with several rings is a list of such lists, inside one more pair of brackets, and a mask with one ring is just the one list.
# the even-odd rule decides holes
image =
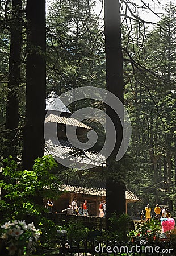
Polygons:
[[[99,13],[95,11],[97,2]],[[108,6],[107,0],[97,2],[53,0],[46,10],[43,0],[0,1],[1,170],[6,168],[4,159],[9,156],[16,161],[15,170],[28,171],[37,157],[44,156],[45,98],[50,92],[60,96],[82,86],[107,89],[124,103],[131,121],[127,152],[119,162],[108,159],[113,179],[118,180],[115,182],[123,180],[125,187],[141,199],[140,203],[129,205],[129,215],[139,217],[149,203],[153,209],[156,204],[165,205],[175,216],[176,6],[169,1],[161,6],[160,0],[154,0],[162,11],[155,14],[156,22],[146,22],[142,13],[155,13],[153,1],[148,5],[142,0],[113,0],[119,13],[115,9],[117,14],[112,17],[118,16],[120,33],[115,33],[114,39],[108,34],[108,10],[112,11],[113,6]],[[108,52],[110,42],[120,49],[115,55]],[[113,88],[107,74],[116,72],[116,67],[123,75],[116,75],[117,86]],[[101,101],[81,100],[71,104],[69,110],[74,113],[86,106],[106,109]],[[106,111],[115,118],[110,110]],[[86,124],[98,134],[99,151],[104,143],[103,126],[92,119]],[[58,165],[56,172],[61,182],[106,187],[106,168],[96,172]],[[109,182],[114,182],[112,177]],[[119,204],[117,199],[117,211]]]

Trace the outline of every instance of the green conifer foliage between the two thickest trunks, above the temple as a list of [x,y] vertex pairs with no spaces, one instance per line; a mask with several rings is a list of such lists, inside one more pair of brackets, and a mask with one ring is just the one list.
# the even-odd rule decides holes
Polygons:
[[105,85],[104,43],[94,6],[93,0],[52,2],[47,17],[49,90],[52,87],[61,93],[79,86]]

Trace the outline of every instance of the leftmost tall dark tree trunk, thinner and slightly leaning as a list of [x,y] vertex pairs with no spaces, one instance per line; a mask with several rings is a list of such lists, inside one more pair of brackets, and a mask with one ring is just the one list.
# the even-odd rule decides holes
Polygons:
[[9,55],[9,82],[6,105],[5,128],[10,130],[6,133],[6,150],[4,157],[12,155],[16,157],[16,143],[19,123],[19,85],[20,85],[20,55],[22,46],[22,0],[12,1],[11,40]]

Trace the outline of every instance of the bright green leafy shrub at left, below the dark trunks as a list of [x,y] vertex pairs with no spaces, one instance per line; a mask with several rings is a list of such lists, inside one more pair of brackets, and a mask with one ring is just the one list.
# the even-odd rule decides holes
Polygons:
[[23,219],[40,216],[46,209],[43,198],[57,199],[60,195],[60,180],[51,170],[57,167],[52,156],[37,158],[31,171],[20,171],[10,156],[5,159],[0,187],[5,196],[0,200],[1,214],[8,219]]

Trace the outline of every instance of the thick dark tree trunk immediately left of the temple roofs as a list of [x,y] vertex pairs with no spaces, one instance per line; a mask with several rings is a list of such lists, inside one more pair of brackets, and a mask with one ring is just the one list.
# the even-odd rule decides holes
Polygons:
[[23,129],[23,168],[31,170],[44,155],[45,118],[45,1],[27,1],[26,123]]

